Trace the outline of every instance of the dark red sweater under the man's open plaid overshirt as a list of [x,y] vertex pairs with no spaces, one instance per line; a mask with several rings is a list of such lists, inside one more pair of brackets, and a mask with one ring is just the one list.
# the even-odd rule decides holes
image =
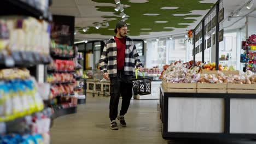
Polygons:
[[124,63],[125,63],[125,46],[126,46],[126,40],[125,38],[119,39],[117,37],[115,38],[115,43],[117,43],[117,70],[123,70],[124,69]]

